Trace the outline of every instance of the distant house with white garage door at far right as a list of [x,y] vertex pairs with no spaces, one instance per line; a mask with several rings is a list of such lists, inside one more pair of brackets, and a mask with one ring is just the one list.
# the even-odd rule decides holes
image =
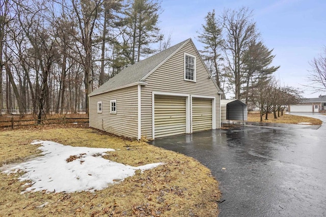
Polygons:
[[296,105],[289,106],[289,112],[326,112],[326,96],[302,99]]

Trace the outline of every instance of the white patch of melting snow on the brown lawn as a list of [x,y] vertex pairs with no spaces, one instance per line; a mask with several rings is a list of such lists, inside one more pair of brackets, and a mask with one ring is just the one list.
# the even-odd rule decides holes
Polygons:
[[[34,141],[41,144],[44,156],[15,165],[5,173],[25,172],[20,181],[31,180],[25,192],[80,192],[102,190],[132,176],[135,170],[148,170],[162,163],[131,167],[102,158],[111,148],[89,148],[62,145],[51,141]],[[73,156],[74,158],[72,158]],[[70,162],[67,162],[70,159]],[[22,192],[24,193],[24,192]]]

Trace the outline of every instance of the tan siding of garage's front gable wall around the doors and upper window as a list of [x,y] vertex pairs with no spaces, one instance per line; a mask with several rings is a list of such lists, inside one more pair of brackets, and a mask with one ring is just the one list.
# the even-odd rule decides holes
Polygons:
[[[196,82],[184,81],[184,53],[196,56]],[[193,44],[189,41],[169,60],[145,80],[142,86],[142,135],[152,138],[152,92],[173,92],[191,95],[214,96],[216,128],[220,128],[220,95],[209,77]]]

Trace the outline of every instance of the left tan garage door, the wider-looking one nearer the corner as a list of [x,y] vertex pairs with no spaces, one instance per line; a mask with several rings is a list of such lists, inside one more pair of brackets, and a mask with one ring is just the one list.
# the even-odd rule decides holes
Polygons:
[[184,134],[185,108],[185,97],[155,96],[155,138]]

